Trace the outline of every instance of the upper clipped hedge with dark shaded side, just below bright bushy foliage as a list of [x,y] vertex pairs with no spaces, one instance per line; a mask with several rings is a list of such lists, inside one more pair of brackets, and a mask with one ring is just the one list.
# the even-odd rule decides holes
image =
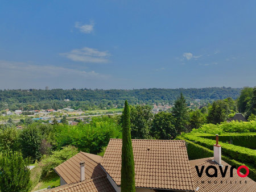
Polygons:
[[[215,135],[202,134],[199,135],[205,139],[215,140]],[[246,147],[250,149],[256,149],[256,133],[229,133],[221,134],[218,136],[218,140],[222,143],[228,143],[232,141],[233,145],[238,145],[241,147]]]

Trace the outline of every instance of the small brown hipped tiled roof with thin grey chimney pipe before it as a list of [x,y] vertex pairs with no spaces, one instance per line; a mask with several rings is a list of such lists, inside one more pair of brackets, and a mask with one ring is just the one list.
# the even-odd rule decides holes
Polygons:
[[55,168],[63,180],[70,184],[80,181],[80,162],[85,162],[85,179],[105,176],[100,166],[101,156],[80,152]]

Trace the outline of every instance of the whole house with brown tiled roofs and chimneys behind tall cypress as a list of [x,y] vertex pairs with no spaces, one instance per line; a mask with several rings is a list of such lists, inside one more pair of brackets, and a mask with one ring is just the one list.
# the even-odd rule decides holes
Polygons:
[[[213,146],[214,157],[191,161],[188,160],[184,140],[133,139],[132,144],[136,191],[256,191],[256,182],[248,177],[237,174],[234,177],[221,176],[219,166],[231,166],[221,160],[218,143]],[[121,139],[110,139],[104,157],[78,153],[55,168],[61,186],[50,191],[120,192],[121,154]],[[195,166],[201,170],[202,166],[208,165],[218,168],[217,177],[208,177],[205,172],[198,176]],[[212,171],[209,171],[210,174],[213,174]],[[237,173],[237,170],[233,172]]]

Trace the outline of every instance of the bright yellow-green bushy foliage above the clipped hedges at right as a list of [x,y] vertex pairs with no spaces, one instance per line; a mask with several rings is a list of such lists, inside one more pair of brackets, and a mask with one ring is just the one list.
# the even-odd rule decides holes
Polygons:
[[256,121],[238,122],[222,122],[220,124],[204,124],[198,129],[193,129],[191,133],[212,133],[221,134],[225,132],[256,132]]

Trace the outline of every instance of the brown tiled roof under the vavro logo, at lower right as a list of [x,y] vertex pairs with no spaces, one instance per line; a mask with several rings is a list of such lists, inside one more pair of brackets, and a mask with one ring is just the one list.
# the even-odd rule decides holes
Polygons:
[[[239,177],[237,175],[237,169],[233,170],[233,177],[230,177],[230,168],[231,165],[227,164],[225,161],[221,160],[221,164],[224,165],[222,168],[225,169],[225,166],[228,165],[228,171],[226,172],[226,177],[222,177],[220,173],[220,169],[218,168],[218,164],[213,161],[213,157],[211,158],[201,158],[198,160],[189,161],[191,164],[191,172],[193,176],[193,186],[195,190],[199,187],[199,192],[233,192],[233,191],[241,191],[241,192],[255,192],[256,191],[256,182],[251,180],[249,177]],[[205,166],[203,175],[199,177],[197,175],[197,171],[195,166],[199,166],[199,170],[201,170],[201,166]],[[207,166],[216,166],[218,170],[218,177],[208,177],[205,174],[205,169]],[[213,174],[214,170],[209,169],[209,173]],[[249,173],[250,174],[250,173]],[[204,181],[204,183],[202,183]],[[208,182],[210,181],[210,183]],[[222,183],[221,183],[222,181]],[[241,183],[240,183],[241,181]],[[245,183],[245,181],[247,183]],[[217,182],[217,183],[214,183]],[[231,183],[230,183],[231,182]]]

